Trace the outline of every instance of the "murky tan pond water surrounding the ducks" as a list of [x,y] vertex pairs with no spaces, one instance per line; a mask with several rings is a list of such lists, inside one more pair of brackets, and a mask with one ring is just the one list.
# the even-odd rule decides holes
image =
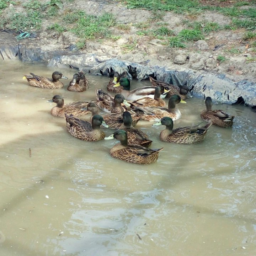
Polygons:
[[[82,93],[66,90],[72,69],[61,70],[70,78],[62,89],[22,80],[22,73],[53,71],[0,63],[0,255],[255,255],[254,112],[219,105],[236,116],[233,128],[210,127],[196,145],[162,143],[164,127],[139,122],[152,148],[164,150],[152,165],[129,164],[109,155],[116,140],[72,137],[46,103],[55,94],[65,102],[94,99],[108,78],[89,75]],[[175,126],[196,124],[204,101],[178,107]]]

